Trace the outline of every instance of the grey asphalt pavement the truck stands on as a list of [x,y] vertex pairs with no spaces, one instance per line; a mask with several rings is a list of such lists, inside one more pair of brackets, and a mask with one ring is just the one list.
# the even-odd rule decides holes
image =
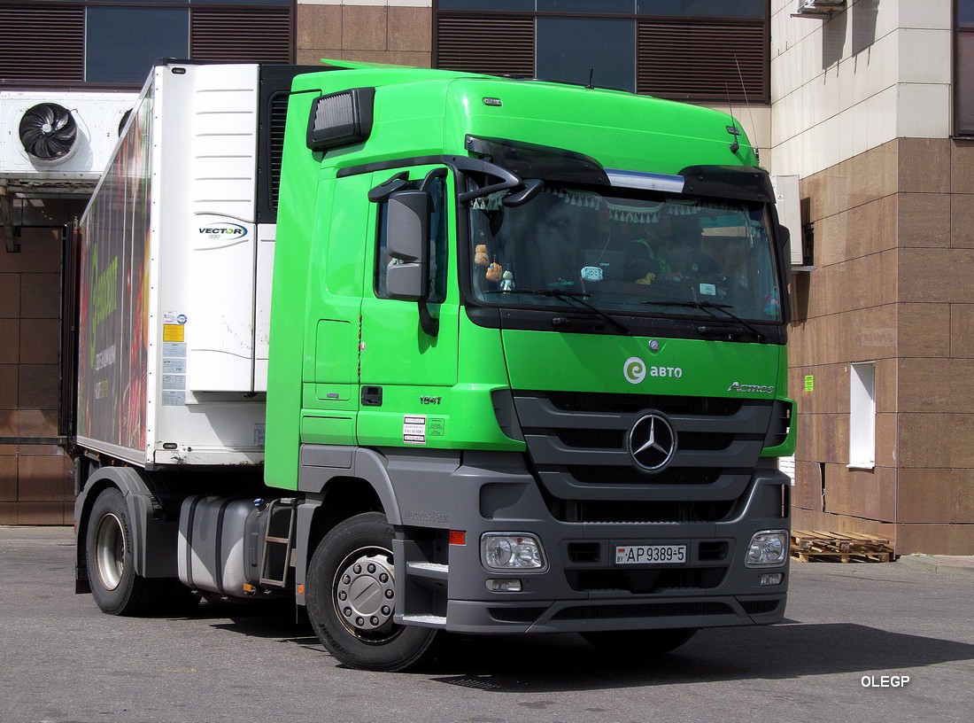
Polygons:
[[974,709],[974,560],[792,563],[787,620],[621,660],[575,634],[454,637],[406,673],[340,666],[287,608],[116,618],[70,528],[0,527],[0,723],[937,723]]

